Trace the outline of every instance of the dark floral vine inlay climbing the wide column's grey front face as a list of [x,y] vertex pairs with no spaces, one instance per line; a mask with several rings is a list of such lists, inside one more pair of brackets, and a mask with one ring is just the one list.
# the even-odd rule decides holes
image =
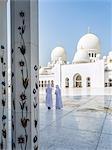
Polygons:
[[25,33],[25,13],[21,11],[19,13],[19,16],[21,18],[21,25],[18,27],[19,35],[20,35],[20,46],[18,47],[18,50],[21,53],[21,60],[19,61],[20,71],[21,71],[21,80],[22,80],[22,91],[20,94],[19,104],[20,104],[20,110],[21,110],[21,118],[20,123],[21,127],[24,130],[24,133],[18,137],[18,144],[20,144],[21,150],[27,150],[27,143],[28,143],[28,124],[30,122],[30,119],[28,118],[28,96],[26,95],[26,91],[29,85],[29,77],[28,77],[28,63],[26,59],[26,45],[24,40],[24,33]]

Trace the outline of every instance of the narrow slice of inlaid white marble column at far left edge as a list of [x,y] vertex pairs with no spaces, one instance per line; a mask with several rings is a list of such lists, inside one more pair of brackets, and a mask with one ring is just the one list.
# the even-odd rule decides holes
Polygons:
[[7,1],[0,1],[0,149],[8,144]]

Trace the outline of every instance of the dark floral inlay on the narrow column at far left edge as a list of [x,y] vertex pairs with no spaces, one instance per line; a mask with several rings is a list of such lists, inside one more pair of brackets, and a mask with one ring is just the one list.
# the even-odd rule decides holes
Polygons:
[[2,79],[1,79],[1,88],[2,88],[2,99],[1,99],[1,106],[2,106],[2,124],[1,124],[1,142],[0,142],[0,149],[5,150],[7,149],[7,115],[5,109],[7,109],[7,96],[6,96],[6,62],[5,62],[5,47],[1,45],[1,65],[2,65]]

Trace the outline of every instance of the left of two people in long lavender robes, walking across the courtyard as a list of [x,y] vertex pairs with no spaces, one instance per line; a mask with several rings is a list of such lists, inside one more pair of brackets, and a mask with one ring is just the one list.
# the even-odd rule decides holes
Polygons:
[[52,108],[52,88],[49,84],[46,88],[46,106],[48,109]]

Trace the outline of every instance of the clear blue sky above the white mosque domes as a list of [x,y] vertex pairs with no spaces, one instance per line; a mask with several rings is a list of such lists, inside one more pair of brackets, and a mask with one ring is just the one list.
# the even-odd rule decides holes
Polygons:
[[74,57],[77,42],[87,33],[95,33],[101,41],[101,54],[112,50],[111,0],[39,0],[39,62],[44,66],[56,46]]

